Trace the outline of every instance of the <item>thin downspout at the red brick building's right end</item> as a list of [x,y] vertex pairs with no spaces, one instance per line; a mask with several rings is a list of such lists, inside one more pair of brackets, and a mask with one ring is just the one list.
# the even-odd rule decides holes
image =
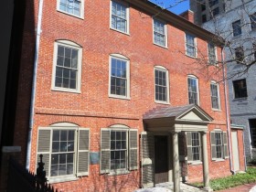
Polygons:
[[225,108],[226,108],[226,119],[227,119],[227,133],[228,133],[228,141],[229,141],[229,166],[230,172],[234,175],[235,172],[233,170],[233,157],[231,151],[231,136],[230,136],[230,120],[229,120],[229,105],[228,105],[228,92],[227,92],[227,80],[225,77],[225,66],[224,66],[224,48],[221,48],[221,62],[222,62],[222,75],[224,81],[224,93],[225,93]]

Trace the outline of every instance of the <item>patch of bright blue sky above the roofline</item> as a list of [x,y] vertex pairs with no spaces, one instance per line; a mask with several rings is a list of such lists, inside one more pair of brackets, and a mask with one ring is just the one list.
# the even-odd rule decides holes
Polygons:
[[[155,3],[156,5],[160,5],[165,8],[171,7],[171,8],[168,8],[168,10],[174,12],[177,15],[189,9],[189,0],[150,0],[150,1]],[[182,3],[179,3],[181,1]]]

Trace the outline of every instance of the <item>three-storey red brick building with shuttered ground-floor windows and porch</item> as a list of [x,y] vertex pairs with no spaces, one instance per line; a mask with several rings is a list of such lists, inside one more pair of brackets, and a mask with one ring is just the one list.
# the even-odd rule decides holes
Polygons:
[[[35,70],[22,154],[29,169],[44,155],[48,180],[61,191],[132,191],[163,182],[178,191],[180,170],[182,179],[204,180],[209,189],[209,178],[229,176],[227,85],[215,65],[219,38],[148,1],[71,2],[35,4]],[[22,86],[19,91],[25,94]],[[16,119],[25,115],[17,112]],[[18,144],[27,127],[16,123]],[[243,133],[232,133],[236,171],[244,170]]]

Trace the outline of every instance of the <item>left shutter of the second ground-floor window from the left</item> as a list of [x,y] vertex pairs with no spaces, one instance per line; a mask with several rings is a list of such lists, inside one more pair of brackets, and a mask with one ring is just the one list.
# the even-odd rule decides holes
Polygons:
[[101,128],[101,174],[110,173],[111,160],[111,132],[107,128]]

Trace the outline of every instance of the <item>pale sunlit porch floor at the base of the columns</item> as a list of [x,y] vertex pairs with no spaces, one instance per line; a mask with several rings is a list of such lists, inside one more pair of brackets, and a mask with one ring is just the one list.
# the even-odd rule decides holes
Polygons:
[[[162,184],[156,184],[155,187],[151,188],[141,188],[137,189],[134,192],[173,192],[174,185],[171,182],[166,182]],[[204,190],[187,185],[185,183],[180,183],[180,192],[203,192]]]

